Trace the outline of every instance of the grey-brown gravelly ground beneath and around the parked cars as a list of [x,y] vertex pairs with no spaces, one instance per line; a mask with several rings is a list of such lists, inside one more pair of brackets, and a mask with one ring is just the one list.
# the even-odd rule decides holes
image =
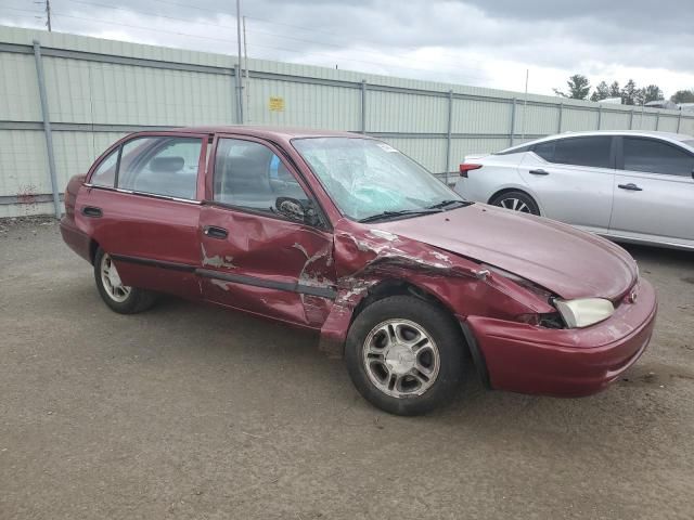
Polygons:
[[316,338],[165,299],[111,312],[53,221],[0,221],[0,519],[694,517],[694,253],[629,247],[650,350],[580,400],[400,418]]

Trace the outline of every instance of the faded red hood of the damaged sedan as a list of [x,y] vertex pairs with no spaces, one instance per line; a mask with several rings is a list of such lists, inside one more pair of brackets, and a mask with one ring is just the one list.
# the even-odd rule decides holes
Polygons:
[[373,227],[494,265],[565,299],[614,300],[638,277],[631,256],[604,238],[484,204]]

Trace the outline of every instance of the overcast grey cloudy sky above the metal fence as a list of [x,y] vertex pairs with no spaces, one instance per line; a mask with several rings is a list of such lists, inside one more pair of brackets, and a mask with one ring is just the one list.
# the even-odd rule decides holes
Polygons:
[[[234,0],[51,5],[54,31],[236,53]],[[40,27],[40,9],[0,0],[0,24]],[[515,91],[529,69],[540,94],[574,73],[694,88],[692,0],[242,0],[242,14],[249,57]]]

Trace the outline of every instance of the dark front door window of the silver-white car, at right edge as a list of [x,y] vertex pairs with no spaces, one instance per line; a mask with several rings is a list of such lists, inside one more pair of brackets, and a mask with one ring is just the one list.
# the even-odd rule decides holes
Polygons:
[[694,157],[653,139],[624,138],[625,170],[691,177]]

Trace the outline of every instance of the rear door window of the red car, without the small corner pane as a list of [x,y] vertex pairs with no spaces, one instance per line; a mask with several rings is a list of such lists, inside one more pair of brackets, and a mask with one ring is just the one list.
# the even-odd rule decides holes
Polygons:
[[194,199],[203,146],[198,138],[137,138],[123,146],[118,187]]

